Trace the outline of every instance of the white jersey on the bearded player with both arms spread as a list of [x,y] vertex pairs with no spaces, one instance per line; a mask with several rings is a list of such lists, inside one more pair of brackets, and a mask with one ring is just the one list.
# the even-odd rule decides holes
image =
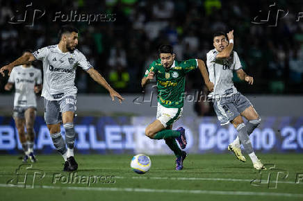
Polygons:
[[76,96],[77,88],[74,85],[76,68],[81,67],[87,71],[92,67],[79,50],[63,53],[58,44],[38,49],[33,55],[43,62],[44,81],[41,96],[47,100]]

